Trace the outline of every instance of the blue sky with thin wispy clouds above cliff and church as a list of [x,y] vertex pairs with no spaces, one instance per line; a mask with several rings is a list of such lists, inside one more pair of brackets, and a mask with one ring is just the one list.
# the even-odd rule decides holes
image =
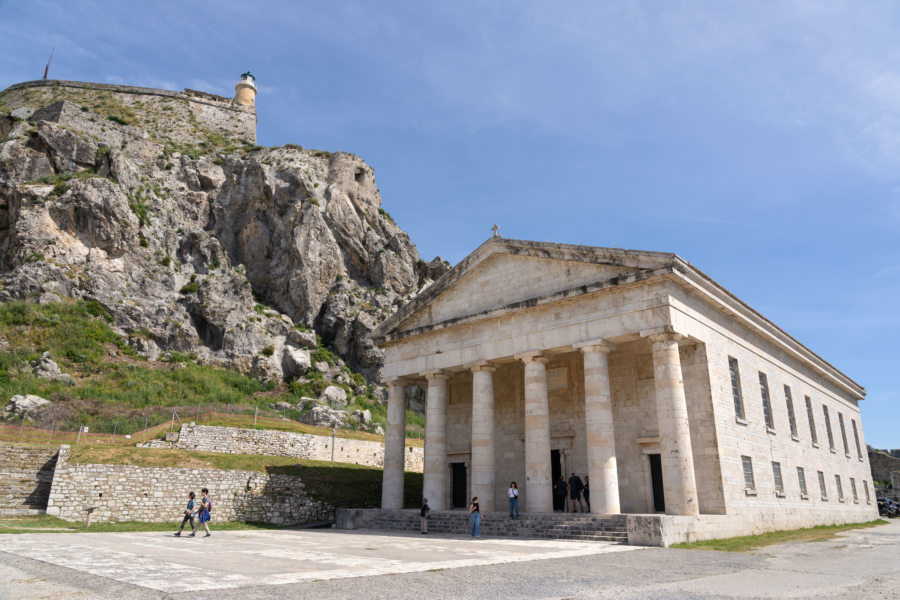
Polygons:
[[900,4],[5,2],[0,88],[230,96],[346,150],[426,259],[490,235],[674,251],[863,384],[900,447]]

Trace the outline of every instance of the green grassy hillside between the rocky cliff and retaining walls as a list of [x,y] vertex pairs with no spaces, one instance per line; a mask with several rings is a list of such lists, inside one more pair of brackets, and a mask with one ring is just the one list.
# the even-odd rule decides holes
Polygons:
[[[255,412],[263,418],[278,417],[281,423],[285,423],[281,419],[295,422],[301,411],[278,412],[272,404],[284,400],[297,406],[301,396],[314,391],[308,389],[310,384],[266,385],[234,371],[197,364],[181,353],[170,353],[167,361],[148,361],[112,330],[110,321],[95,302],[0,304],[0,338],[8,343],[6,351],[0,352],[0,404],[14,394],[36,394],[53,404],[30,415],[26,426],[77,431],[85,424],[94,433],[131,434],[145,425],[151,428],[169,421],[173,410],[185,422],[196,420],[198,413],[200,422],[227,413],[219,421],[252,426],[246,419],[235,423],[229,418]],[[44,351],[75,378],[74,384],[32,374],[30,361]],[[316,353],[317,360],[331,355],[325,348]],[[374,422],[384,424],[385,407],[371,395],[350,397],[348,410],[368,409]],[[408,435],[421,438],[422,417],[409,416]]]

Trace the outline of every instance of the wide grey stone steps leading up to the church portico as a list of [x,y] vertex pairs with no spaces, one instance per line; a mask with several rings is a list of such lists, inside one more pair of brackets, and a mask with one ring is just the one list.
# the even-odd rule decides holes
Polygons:
[[[380,514],[368,525],[383,531],[419,532],[418,510],[396,510]],[[470,534],[468,513],[461,510],[431,511],[430,533]],[[485,513],[481,535],[486,537],[521,537],[628,543],[625,515],[596,516],[582,513],[522,513],[512,520],[505,512]]]

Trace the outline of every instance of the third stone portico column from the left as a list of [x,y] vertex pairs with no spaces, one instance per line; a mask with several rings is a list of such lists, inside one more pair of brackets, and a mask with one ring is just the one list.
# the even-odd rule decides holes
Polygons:
[[481,510],[496,510],[494,467],[494,367],[472,367],[472,495]]

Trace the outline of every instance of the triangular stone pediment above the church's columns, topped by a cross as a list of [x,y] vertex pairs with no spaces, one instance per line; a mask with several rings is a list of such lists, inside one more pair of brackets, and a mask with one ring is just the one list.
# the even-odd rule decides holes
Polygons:
[[649,271],[672,254],[492,238],[379,326],[376,337],[526,306]]

